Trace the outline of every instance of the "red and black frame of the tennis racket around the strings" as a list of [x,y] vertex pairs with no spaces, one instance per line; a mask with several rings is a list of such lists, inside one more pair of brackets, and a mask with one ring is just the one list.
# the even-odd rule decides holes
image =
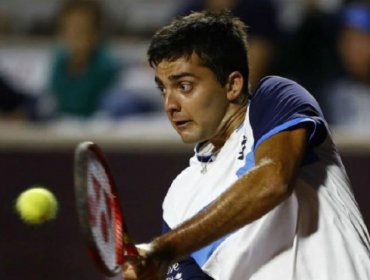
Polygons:
[[[90,227],[89,220],[91,219],[88,207],[88,194],[87,194],[87,184],[88,184],[88,164],[89,157],[93,155],[98,162],[101,163],[109,184],[111,186],[112,196],[109,197],[109,205],[113,208],[113,219],[115,220],[115,244],[116,244],[116,259],[117,266],[111,270],[102,260],[102,256],[99,253],[99,249],[95,243],[92,229]],[[122,208],[119,202],[118,191],[113,180],[112,173],[108,166],[108,162],[99,146],[93,142],[86,141],[80,143],[75,150],[74,159],[74,180],[75,180],[75,195],[77,212],[79,215],[80,225],[82,231],[86,237],[89,252],[92,255],[95,263],[101,269],[101,271],[107,276],[115,276],[121,271],[121,265],[125,261],[125,257],[138,256],[139,253],[131,241],[131,238],[127,232],[127,227],[123,219]],[[118,246],[117,246],[118,245]]]

